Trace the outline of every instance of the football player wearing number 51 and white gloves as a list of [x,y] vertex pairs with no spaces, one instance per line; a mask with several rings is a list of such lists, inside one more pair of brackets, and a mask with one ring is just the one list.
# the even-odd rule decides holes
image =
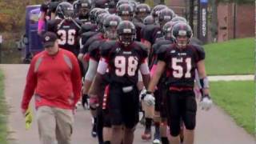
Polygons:
[[154,87],[157,86],[161,75],[165,73],[168,86],[166,106],[170,126],[170,143],[180,143],[180,120],[182,118],[186,127],[184,142],[193,144],[197,111],[193,91],[195,69],[198,69],[202,83],[202,109],[209,110],[212,104],[204,64],[205,52],[202,47],[189,44],[192,30],[184,22],[174,25],[173,37],[175,38],[174,45],[160,47],[157,69],[150,81],[144,100],[149,104],[154,102]]

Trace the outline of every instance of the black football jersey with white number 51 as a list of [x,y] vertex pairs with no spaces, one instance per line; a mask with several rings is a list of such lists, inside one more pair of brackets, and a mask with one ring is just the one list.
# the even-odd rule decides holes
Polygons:
[[187,45],[179,49],[176,45],[163,45],[158,60],[166,62],[166,84],[177,87],[193,87],[197,63],[205,58],[201,46]]

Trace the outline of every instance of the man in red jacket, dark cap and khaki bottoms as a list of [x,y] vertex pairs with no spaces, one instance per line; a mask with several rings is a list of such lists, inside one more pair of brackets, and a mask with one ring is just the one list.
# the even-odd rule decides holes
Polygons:
[[[39,138],[42,144],[70,144],[76,102],[81,96],[78,60],[71,52],[58,47],[57,35],[43,35],[44,51],[34,56],[26,78],[22,98],[25,115],[34,95]],[[55,137],[56,135],[56,137]]]

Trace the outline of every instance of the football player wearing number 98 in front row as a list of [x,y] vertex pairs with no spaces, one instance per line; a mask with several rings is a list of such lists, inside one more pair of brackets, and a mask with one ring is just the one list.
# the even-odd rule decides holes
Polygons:
[[95,106],[98,102],[98,87],[103,74],[106,74],[106,69],[109,67],[111,144],[120,144],[121,142],[132,144],[135,126],[138,123],[139,94],[136,86],[138,70],[142,73],[145,86],[150,80],[150,72],[146,62],[145,46],[140,42],[134,42],[136,34],[134,24],[122,21],[117,30],[118,41],[105,42],[102,46],[94,86],[90,90],[90,104]]

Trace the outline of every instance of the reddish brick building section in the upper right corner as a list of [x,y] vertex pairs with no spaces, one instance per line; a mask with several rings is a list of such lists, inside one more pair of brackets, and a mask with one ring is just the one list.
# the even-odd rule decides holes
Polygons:
[[218,42],[232,38],[253,37],[255,32],[255,6],[250,4],[218,5]]

